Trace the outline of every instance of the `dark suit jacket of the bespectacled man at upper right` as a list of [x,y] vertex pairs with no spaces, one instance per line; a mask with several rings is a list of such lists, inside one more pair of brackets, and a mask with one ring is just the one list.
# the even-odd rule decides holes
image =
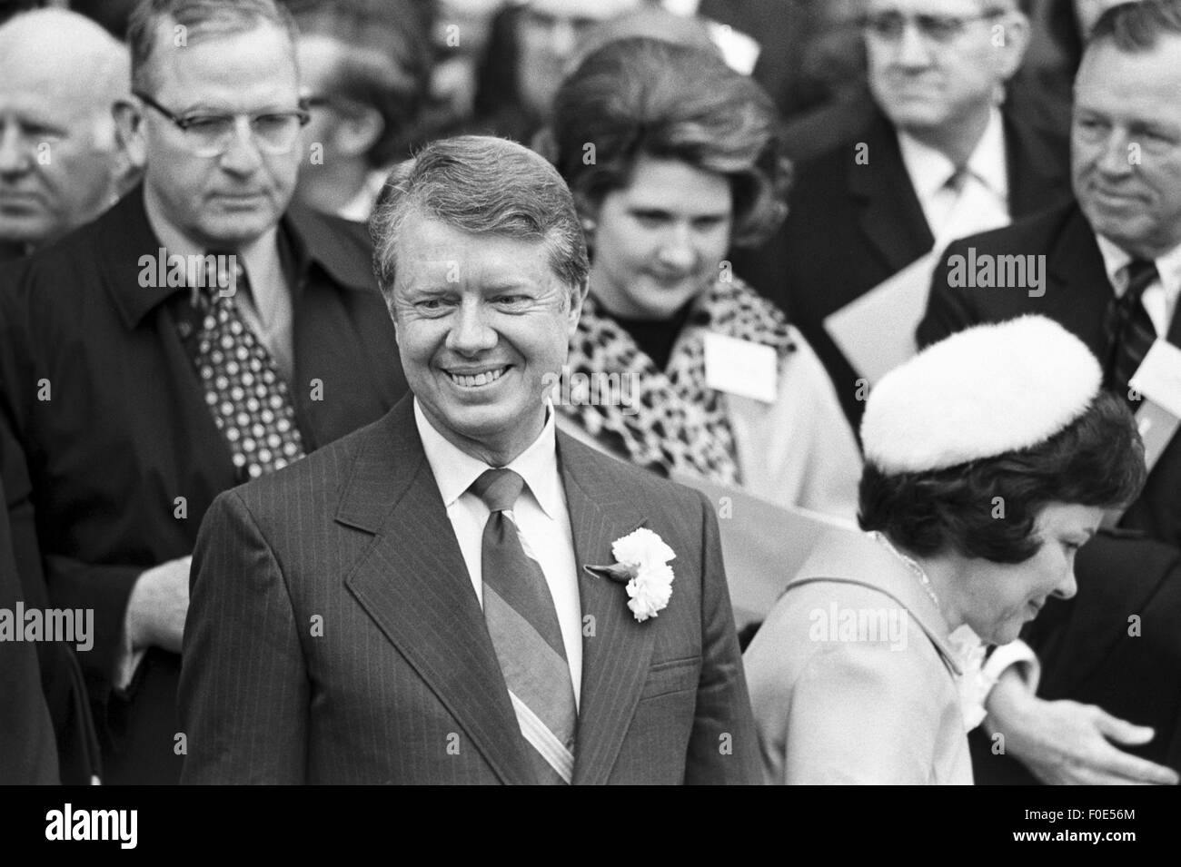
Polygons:
[[[1010,212],[1030,214],[1069,196],[1069,153],[1057,133],[1004,113]],[[855,162],[868,145],[867,165]],[[911,184],[893,125],[875,113],[864,132],[796,166],[783,228],[753,252],[735,251],[735,272],[779,304],[811,343],[856,428],[859,374],[824,330],[824,317],[931,251],[934,237]]]

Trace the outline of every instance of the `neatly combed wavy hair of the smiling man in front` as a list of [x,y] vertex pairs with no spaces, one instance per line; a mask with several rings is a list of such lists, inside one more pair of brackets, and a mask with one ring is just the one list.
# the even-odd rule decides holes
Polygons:
[[411,214],[470,235],[544,243],[559,280],[572,290],[586,285],[590,265],[570,191],[554,166],[516,142],[438,139],[386,178],[368,228],[373,272],[391,313],[398,232]]

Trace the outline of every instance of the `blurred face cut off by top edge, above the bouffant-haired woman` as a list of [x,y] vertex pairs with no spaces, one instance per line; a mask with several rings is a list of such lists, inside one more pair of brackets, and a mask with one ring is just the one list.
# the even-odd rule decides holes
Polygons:
[[554,101],[579,40],[599,21],[639,6],[640,0],[533,0],[517,19],[517,92],[526,107],[544,114]]

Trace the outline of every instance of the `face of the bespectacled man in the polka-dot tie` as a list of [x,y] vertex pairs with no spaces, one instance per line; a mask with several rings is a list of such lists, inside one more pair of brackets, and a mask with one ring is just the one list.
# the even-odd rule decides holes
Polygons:
[[[143,106],[135,140],[146,155],[146,192],[176,229],[207,248],[236,248],[278,224],[295,189],[302,158],[296,125],[291,146],[260,145],[241,114],[274,117],[299,107],[295,50],[285,31],[263,25],[174,48],[162,21],[152,55],[156,103],[182,118],[240,114],[220,153],[204,155],[194,138],[156,109]],[[270,114],[274,113],[274,114]]]

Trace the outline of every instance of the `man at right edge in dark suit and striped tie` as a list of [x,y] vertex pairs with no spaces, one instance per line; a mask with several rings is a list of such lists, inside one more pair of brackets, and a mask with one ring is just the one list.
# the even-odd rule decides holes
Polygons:
[[[932,281],[920,344],[981,322],[1026,313],[1051,316],[1087,342],[1105,367],[1108,387],[1128,394],[1142,416],[1143,401],[1129,389],[1131,375],[1155,341],[1181,346],[1179,91],[1181,1],[1143,0],[1104,13],[1075,84],[1077,202],[952,244]],[[984,263],[999,269],[1001,257],[1032,263],[1042,277],[992,288],[968,278],[965,265],[977,272]],[[1069,605],[1048,606],[1027,636],[1045,669],[1039,695],[1095,702],[1153,725],[1150,743],[1120,740],[1140,744],[1130,751],[1181,769],[1175,629],[1181,436],[1160,452],[1120,527],[1117,536],[1101,534],[1081,552],[1078,596]],[[1069,758],[1074,744],[1063,749],[1065,738],[1056,740],[1050,751]],[[1063,768],[1053,764],[1059,763],[1036,768],[1038,776],[1057,777]],[[1092,763],[1065,764],[1085,770]]]

